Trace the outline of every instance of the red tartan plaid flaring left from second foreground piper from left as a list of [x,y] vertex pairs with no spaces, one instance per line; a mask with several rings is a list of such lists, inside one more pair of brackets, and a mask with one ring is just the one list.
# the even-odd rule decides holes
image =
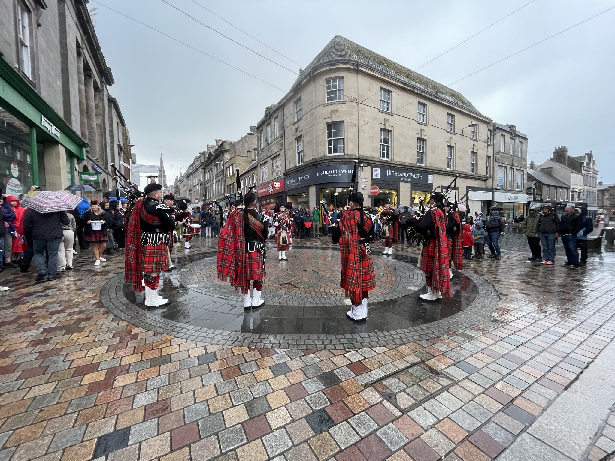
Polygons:
[[[261,235],[264,224],[248,215],[248,226],[253,227]],[[231,283],[235,291],[247,294],[250,290],[250,280],[246,277],[244,210],[233,211],[220,230],[218,239],[218,279]]]

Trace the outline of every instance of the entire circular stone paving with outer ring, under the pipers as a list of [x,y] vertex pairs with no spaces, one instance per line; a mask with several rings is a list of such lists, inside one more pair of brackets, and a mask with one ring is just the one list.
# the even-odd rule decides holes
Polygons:
[[[270,250],[271,251],[271,250]],[[275,248],[271,253],[276,254]],[[270,254],[271,254],[270,253]],[[244,310],[230,285],[216,278],[216,254],[177,254],[179,270],[164,272],[159,294],[170,304],[146,309],[124,274],[111,278],[101,301],[133,325],[208,344],[298,349],[358,349],[402,344],[462,331],[490,315],[499,297],[493,286],[470,271],[454,272],[450,299],[424,301],[424,275],[410,250],[394,256],[373,253],[377,290],[369,296],[368,320],[346,318],[349,301],[339,288],[339,251],[303,246],[289,261],[269,259],[258,309]]]

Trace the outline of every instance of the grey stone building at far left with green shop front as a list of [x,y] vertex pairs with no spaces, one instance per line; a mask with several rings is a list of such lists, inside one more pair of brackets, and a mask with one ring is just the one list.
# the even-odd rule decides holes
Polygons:
[[18,194],[32,184],[114,187],[113,163],[130,177],[133,155],[113,74],[87,2],[0,0],[0,179]]

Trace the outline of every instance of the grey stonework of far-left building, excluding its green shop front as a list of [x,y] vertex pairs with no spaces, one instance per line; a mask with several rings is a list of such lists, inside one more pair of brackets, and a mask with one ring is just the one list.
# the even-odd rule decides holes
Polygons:
[[[62,141],[40,138],[33,162],[39,165],[41,188],[63,189],[71,181],[79,183],[79,171],[101,171],[100,181],[89,183],[99,191],[90,197],[95,198],[114,187],[112,163],[130,177],[130,136],[119,104],[109,94],[113,74],[87,2],[0,0],[0,53],[65,122],[60,140],[68,136],[85,148],[84,159],[84,152],[69,151]],[[36,149],[34,143],[32,151]]]

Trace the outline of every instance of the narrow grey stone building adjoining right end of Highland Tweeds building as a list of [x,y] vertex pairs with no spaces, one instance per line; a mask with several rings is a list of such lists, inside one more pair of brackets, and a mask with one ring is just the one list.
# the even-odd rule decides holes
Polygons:
[[[524,213],[528,202],[525,184],[528,136],[517,131],[515,125],[494,123],[488,130],[487,144],[493,149],[493,172],[490,155],[487,156],[486,169],[493,184],[493,205],[512,222],[514,216]],[[474,194],[470,192],[470,197],[473,198]]]

